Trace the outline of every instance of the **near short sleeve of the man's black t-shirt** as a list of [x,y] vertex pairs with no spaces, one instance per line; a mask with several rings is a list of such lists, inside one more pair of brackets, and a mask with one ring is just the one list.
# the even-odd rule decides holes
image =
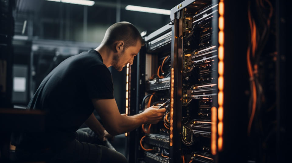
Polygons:
[[84,73],[84,82],[89,98],[113,99],[113,79],[104,65],[94,65]]

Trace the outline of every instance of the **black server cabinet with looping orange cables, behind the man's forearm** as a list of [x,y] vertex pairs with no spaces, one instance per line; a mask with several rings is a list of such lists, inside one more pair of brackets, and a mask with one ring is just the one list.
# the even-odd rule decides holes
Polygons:
[[[165,25],[145,36],[144,40],[145,46],[134,59],[134,64],[127,66],[127,115],[138,114],[152,105],[160,106],[170,99],[171,25]],[[126,136],[129,162],[146,162],[147,159],[149,161],[160,158],[169,162],[168,156],[161,155],[162,152],[164,155],[169,154],[169,131],[163,122],[151,126],[144,124],[143,127],[126,133]],[[144,149],[153,147],[158,150],[156,155],[159,153],[159,156],[154,155],[154,150],[144,151],[140,141]]]

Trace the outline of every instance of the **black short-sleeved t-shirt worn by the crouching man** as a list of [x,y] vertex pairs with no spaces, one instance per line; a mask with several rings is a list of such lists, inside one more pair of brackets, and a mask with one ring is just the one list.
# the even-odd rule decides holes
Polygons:
[[94,110],[92,98],[114,97],[111,73],[101,55],[90,49],[61,62],[30,100],[27,108],[46,111],[46,132],[13,134],[12,144],[47,148],[74,140]]

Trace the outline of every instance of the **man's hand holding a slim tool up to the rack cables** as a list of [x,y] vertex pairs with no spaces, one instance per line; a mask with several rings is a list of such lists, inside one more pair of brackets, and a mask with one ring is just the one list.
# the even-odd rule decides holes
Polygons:
[[143,111],[143,114],[146,117],[146,123],[156,124],[162,120],[166,109],[158,108],[159,106],[151,106]]

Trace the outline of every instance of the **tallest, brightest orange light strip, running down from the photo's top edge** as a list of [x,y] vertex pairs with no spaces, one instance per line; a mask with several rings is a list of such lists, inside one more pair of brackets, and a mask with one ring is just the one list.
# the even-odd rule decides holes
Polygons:
[[224,100],[224,2],[220,0],[219,7],[219,18],[218,18],[218,151],[223,150],[223,100]]

